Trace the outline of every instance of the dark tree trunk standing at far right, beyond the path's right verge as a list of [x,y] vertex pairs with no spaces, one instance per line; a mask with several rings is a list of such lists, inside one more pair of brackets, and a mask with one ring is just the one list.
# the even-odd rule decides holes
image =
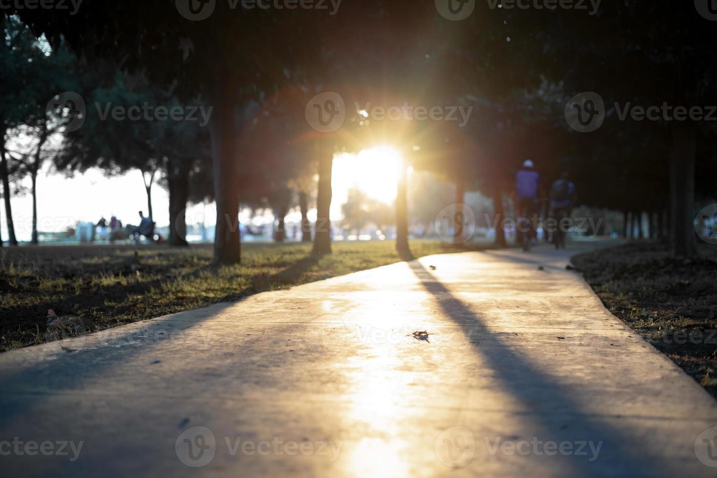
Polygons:
[[695,127],[673,121],[670,154],[671,239],[675,257],[695,254]]

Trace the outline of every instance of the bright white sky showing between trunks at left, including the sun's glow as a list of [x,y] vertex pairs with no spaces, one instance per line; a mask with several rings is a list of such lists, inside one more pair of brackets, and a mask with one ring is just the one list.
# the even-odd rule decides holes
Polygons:
[[[396,199],[399,155],[389,148],[363,150],[358,155],[337,155],[333,163],[333,201],[331,219],[341,219],[341,205],[346,202],[348,190],[360,187],[368,196],[391,204]],[[24,184],[29,186],[29,180]],[[16,196],[11,199],[15,233],[19,241],[29,241],[32,234],[32,196]],[[152,209],[158,226],[169,224],[169,196],[166,190],[155,185],[152,188]],[[37,179],[38,230],[44,232],[65,231],[75,227],[77,221],[96,223],[101,217],[117,216],[123,224],[138,224],[138,211],[147,211],[147,196],[140,171],[130,171],[121,176],[108,178],[103,171],[91,169],[84,174],[67,178],[45,166]],[[290,216],[291,219],[298,213]],[[315,219],[315,211],[310,211]],[[0,208],[2,237],[7,240],[5,209]],[[206,225],[216,221],[214,204],[199,204],[187,209],[189,224]],[[244,211],[242,221],[249,219]]]

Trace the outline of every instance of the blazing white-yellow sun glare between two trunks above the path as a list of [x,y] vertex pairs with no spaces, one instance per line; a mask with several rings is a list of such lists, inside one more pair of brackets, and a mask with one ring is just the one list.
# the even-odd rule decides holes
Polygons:
[[401,153],[389,146],[337,155],[333,160],[332,218],[341,217],[341,204],[346,203],[351,188],[359,188],[373,199],[393,204],[400,164]]

